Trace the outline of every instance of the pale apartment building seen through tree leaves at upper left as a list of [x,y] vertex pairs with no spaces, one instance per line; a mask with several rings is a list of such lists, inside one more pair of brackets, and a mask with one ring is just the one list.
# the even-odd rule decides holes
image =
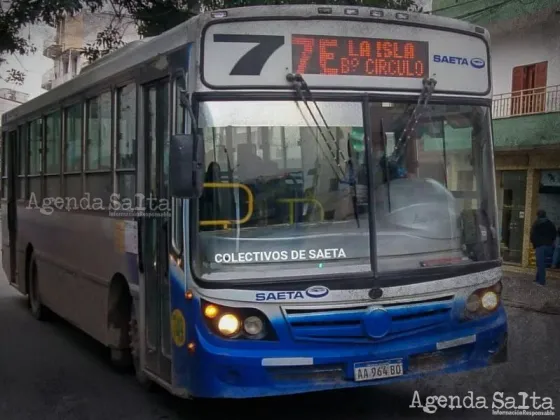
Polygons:
[[82,54],[84,47],[94,44],[97,34],[111,24],[125,44],[139,39],[132,19],[116,19],[110,7],[62,18],[56,34],[43,44],[43,55],[53,60],[53,66],[43,74],[41,87],[50,90],[78,75],[89,64]]

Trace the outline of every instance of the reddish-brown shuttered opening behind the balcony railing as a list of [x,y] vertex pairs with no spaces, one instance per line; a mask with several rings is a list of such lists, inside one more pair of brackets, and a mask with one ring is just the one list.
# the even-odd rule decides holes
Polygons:
[[545,112],[548,62],[514,67],[511,77],[511,114]]

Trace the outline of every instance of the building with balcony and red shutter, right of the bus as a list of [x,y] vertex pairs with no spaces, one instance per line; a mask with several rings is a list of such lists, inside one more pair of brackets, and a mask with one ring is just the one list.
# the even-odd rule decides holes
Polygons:
[[560,0],[433,0],[432,13],[490,31],[502,257],[534,266],[537,210],[560,227]]

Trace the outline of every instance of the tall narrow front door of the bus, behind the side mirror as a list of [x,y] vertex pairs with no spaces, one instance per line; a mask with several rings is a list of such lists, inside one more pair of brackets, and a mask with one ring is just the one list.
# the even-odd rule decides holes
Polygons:
[[[164,183],[165,147],[169,147],[169,81],[159,80],[143,87],[145,196],[143,215],[144,255],[144,340],[146,368],[171,383],[171,327],[169,256],[167,249],[168,217],[158,212],[160,199],[167,199]],[[165,207],[165,206],[164,206]]]

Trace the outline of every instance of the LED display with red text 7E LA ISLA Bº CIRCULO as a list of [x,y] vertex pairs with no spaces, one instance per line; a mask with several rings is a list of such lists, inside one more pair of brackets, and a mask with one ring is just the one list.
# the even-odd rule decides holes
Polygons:
[[424,78],[425,41],[292,35],[292,71],[300,74]]

